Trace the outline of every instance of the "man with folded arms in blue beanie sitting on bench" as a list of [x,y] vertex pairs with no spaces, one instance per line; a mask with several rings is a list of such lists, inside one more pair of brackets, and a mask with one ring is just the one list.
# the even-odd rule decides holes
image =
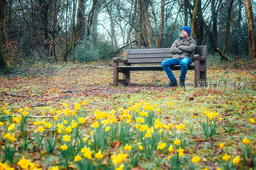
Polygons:
[[180,39],[175,40],[171,47],[171,53],[174,54],[171,59],[164,60],[162,62],[162,67],[166,72],[170,83],[165,87],[174,87],[177,86],[177,80],[174,77],[170,66],[180,65],[180,87],[185,86],[185,78],[188,71],[188,65],[192,63],[195,48],[196,40],[190,36],[191,28],[190,26],[183,26],[181,28]]

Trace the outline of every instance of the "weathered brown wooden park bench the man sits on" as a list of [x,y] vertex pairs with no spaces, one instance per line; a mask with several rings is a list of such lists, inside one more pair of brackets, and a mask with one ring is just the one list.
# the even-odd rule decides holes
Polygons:
[[[195,86],[206,83],[206,63],[207,63],[207,46],[197,46],[195,49],[195,64],[188,66],[188,70],[195,70]],[[162,61],[172,58],[170,48],[156,49],[126,49],[124,60],[117,57],[113,58],[113,86],[122,83],[128,85],[130,83],[131,71],[163,71],[162,65],[132,65],[144,63],[162,63]],[[119,63],[124,63],[119,66]],[[172,70],[180,70],[180,65],[170,67]],[[123,79],[119,79],[119,73],[123,73]]]

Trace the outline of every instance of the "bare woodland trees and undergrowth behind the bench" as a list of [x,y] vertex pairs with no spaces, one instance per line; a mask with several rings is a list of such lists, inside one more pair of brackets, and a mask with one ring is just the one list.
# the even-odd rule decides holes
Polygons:
[[108,60],[127,48],[168,48],[184,25],[209,54],[250,61],[256,56],[255,6],[251,0],[0,0],[0,66]]

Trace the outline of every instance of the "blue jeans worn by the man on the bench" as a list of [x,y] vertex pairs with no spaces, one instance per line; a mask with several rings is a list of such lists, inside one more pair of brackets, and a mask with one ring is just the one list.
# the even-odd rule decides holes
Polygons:
[[166,72],[168,78],[170,79],[171,82],[177,82],[176,78],[174,77],[172,70],[170,69],[170,66],[173,65],[180,65],[180,81],[185,81],[186,74],[188,71],[188,65],[191,64],[191,61],[188,58],[181,58],[181,59],[176,59],[176,58],[171,58],[168,60],[164,60],[162,62],[162,67],[164,71]]

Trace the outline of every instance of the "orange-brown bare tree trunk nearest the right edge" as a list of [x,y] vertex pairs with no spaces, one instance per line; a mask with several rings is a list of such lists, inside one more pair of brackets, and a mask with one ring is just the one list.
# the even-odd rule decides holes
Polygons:
[[251,0],[245,0],[245,5],[246,5],[246,11],[247,11],[247,17],[248,17],[249,57],[256,58]]

